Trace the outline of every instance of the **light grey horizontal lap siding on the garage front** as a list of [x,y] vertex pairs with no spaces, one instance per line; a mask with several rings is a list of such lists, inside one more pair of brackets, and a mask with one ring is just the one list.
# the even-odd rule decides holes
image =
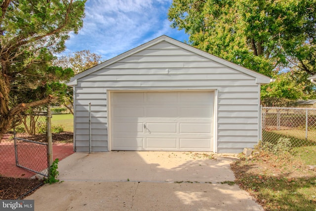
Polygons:
[[160,42],[78,80],[75,103],[79,151],[87,151],[88,147],[89,102],[92,150],[107,149],[108,89],[217,89],[218,152],[241,152],[258,141],[258,84],[255,78]]

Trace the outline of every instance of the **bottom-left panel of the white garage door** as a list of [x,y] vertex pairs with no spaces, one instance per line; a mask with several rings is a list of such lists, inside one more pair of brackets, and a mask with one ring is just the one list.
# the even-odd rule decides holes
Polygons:
[[138,150],[143,148],[144,138],[127,138],[127,137],[116,137],[113,140],[113,149],[130,149]]

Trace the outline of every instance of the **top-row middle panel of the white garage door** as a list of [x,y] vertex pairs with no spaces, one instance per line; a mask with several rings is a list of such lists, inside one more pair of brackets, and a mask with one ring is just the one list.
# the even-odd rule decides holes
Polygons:
[[148,105],[177,104],[177,92],[147,92],[146,104]]

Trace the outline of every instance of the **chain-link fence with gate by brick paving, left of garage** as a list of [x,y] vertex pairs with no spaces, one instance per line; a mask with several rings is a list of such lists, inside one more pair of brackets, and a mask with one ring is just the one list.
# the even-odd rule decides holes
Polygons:
[[27,115],[0,141],[0,176],[48,176],[47,113]]

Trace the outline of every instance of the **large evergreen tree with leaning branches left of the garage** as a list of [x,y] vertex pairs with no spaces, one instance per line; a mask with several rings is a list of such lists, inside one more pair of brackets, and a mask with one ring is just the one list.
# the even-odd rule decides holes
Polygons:
[[[15,116],[54,99],[54,82],[72,76],[51,60],[82,27],[85,1],[0,0],[0,138]],[[21,102],[13,92],[23,90],[41,94]]]

